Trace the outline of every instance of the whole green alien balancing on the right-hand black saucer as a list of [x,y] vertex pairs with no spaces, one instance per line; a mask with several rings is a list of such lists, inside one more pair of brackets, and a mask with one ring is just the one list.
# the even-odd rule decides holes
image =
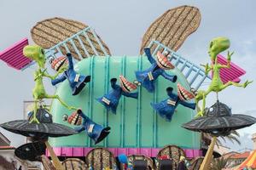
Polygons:
[[[198,110],[198,113],[196,116],[204,116],[204,110],[206,107],[206,98],[207,98],[207,95],[210,94],[211,92],[215,92],[218,94],[218,92],[224,90],[224,88],[227,88],[230,85],[246,88],[249,83],[253,82],[253,81],[251,81],[251,82],[246,81],[246,82],[240,84],[240,83],[230,81],[230,82],[226,82],[224,84],[224,82],[221,81],[221,78],[219,77],[219,70],[221,68],[230,68],[231,55],[234,54],[234,52],[230,53],[228,51],[227,65],[218,64],[217,56],[218,56],[218,54],[220,54],[221,52],[223,52],[224,50],[226,50],[228,48],[230,48],[230,40],[226,37],[216,37],[216,38],[212,39],[212,41],[210,42],[208,54],[211,57],[212,64],[211,65],[207,64],[207,65],[202,65],[202,66],[205,67],[206,75],[208,75],[209,71],[212,71],[213,77],[212,77],[212,82],[211,82],[209,88],[207,89],[207,91],[199,90],[195,94],[195,102],[196,102],[197,110]],[[202,108],[201,109],[198,106],[198,103],[200,100],[202,100]]]

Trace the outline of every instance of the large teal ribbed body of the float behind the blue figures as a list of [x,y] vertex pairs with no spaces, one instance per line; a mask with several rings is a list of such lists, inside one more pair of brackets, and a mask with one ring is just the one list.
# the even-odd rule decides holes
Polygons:
[[[172,122],[166,122],[152,109],[151,102],[160,102],[167,98],[166,88],[176,90],[177,83],[172,83],[159,77],[154,94],[149,94],[144,88],[138,88],[139,98],[131,99],[121,97],[116,115],[106,111],[96,98],[108,93],[110,79],[123,74],[130,82],[135,78],[134,72],[144,70],[149,66],[148,59],[140,56],[111,56],[92,57],[83,59],[75,66],[80,74],[91,75],[91,82],[86,85],[81,94],[72,96],[68,82],[62,82],[57,88],[56,94],[60,95],[69,105],[82,108],[87,116],[99,124],[111,127],[108,138],[96,146],[105,147],[150,147],[160,148],[166,144],[177,144],[183,148],[199,149],[200,137],[197,133],[183,129],[181,125],[189,122],[195,115],[195,111],[183,106],[177,107],[177,112],[172,117]],[[177,75],[177,82],[183,87],[189,88],[183,74],[178,70],[167,71]],[[119,81],[118,81],[119,82]],[[53,101],[51,113],[55,122],[73,127],[62,121],[62,115],[70,115],[58,101]],[[50,139],[55,146],[95,146],[86,133],[79,133],[65,138]]]

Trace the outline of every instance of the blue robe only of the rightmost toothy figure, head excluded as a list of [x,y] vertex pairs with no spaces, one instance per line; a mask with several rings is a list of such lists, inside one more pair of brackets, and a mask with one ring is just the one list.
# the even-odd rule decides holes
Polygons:
[[166,90],[169,96],[168,99],[162,100],[160,103],[156,104],[151,103],[150,105],[154,108],[155,111],[158,112],[161,117],[165,118],[167,122],[172,121],[172,115],[176,110],[177,105],[183,105],[195,110],[195,103],[189,103],[179,99],[177,94],[172,93],[172,88],[167,88]]

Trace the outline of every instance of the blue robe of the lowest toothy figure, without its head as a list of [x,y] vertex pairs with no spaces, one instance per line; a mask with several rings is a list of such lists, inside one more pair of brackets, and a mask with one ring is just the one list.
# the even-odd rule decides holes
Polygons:
[[95,144],[101,142],[108,136],[110,127],[102,127],[96,122],[91,121],[88,116],[84,115],[82,110],[78,110],[77,113],[83,117],[83,122],[81,126],[75,127],[75,131],[78,133],[85,131],[90,139],[95,141]]

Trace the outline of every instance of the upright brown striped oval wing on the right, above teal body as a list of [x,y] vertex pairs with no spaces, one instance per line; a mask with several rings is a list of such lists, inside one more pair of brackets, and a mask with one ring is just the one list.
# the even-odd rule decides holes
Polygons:
[[[167,10],[148,27],[143,36],[140,54],[143,54],[143,48],[148,47],[153,40],[177,51],[186,38],[197,30],[200,21],[201,14],[196,7],[184,5]],[[154,43],[149,48],[154,51],[156,47],[157,44]]]

